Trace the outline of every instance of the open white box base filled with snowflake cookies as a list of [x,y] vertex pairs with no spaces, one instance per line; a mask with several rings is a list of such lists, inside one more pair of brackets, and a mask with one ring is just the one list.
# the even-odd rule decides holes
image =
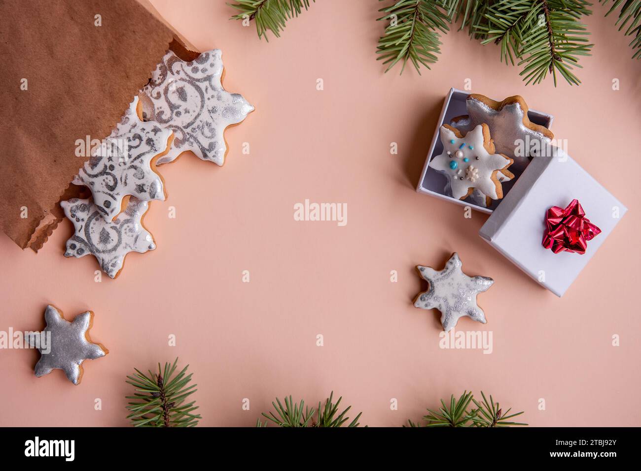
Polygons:
[[554,135],[553,116],[522,97],[501,102],[450,90],[417,191],[492,212]]

